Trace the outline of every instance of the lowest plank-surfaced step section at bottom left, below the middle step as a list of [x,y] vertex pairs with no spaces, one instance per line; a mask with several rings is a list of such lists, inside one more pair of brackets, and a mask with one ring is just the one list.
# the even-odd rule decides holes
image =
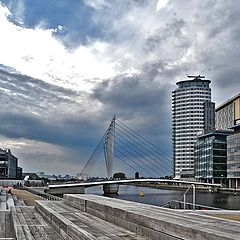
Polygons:
[[[17,240],[63,239],[53,227],[37,213],[34,207],[16,206],[11,208],[14,234]],[[69,238],[68,240],[71,240]]]

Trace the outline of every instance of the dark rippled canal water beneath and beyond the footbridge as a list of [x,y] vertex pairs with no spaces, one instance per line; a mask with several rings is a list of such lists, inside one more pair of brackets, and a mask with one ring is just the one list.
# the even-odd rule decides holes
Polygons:
[[[144,196],[140,196],[140,192]],[[86,193],[103,195],[101,186],[86,188]],[[165,190],[130,185],[120,185],[119,194],[112,196],[118,199],[162,206],[171,200],[183,201],[184,191]],[[192,192],[187,194],[187,202],[192,202]],[[240,195],[196,191],[196,204],[222,209],[240,210]]]

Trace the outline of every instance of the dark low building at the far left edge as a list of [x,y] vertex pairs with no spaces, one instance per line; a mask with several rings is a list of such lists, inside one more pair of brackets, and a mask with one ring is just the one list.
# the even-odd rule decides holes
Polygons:
[[10,149],[0,148],[0,179],[18,178],[18,159],[12,155]]

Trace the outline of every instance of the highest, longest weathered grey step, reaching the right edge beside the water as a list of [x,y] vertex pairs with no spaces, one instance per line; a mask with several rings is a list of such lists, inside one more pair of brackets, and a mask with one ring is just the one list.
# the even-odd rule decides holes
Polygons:
[[64,202],[149,239],[240,239],[240,223],[194,212],[164,209],[89,194],[68,194]]

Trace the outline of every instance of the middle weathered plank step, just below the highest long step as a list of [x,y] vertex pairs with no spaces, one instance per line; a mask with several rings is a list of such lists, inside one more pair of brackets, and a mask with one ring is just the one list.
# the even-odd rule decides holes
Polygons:
[[144,240],[146,238],[63,202],[37,201],[36,210],[65,238]]

